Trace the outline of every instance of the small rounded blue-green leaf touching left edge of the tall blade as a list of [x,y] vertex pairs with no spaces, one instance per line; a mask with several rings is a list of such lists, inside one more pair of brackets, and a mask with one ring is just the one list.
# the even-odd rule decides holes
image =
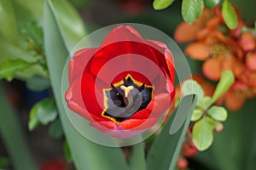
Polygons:
[[39,101],[32,107],[32,111],[36,112],[38,121],[44,125],[53,122],[58,115],[55,107],[55,100],[52,97]]

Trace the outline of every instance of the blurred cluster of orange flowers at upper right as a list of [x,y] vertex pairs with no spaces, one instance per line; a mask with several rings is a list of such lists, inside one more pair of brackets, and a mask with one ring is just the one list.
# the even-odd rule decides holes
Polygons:
[[229,30],[220,8],[205,8],[192,25],[183,22],[174,33],[177,42],[193,41],[185,48],[185,54],[204,61],[205,77],[218,81],[222,71],[233,71],[236,82],[222,99],[231,111],[256,96],[256,32],[246,27],[237,10],[236,14],[238,26]]

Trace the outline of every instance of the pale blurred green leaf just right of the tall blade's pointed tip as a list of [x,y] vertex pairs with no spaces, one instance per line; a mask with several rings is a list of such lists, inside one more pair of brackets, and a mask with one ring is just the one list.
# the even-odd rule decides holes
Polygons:
[[86,35],[83,20],[68,1],[60,3],[59,0],[52,0],[51,2],[55,8],[55,17],[60,22],[64,43],[71,51]]

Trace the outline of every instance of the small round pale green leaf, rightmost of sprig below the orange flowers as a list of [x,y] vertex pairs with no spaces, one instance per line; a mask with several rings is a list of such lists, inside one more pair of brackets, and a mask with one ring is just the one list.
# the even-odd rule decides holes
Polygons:
[[208,111],[209,116],[212,116],[213,119],[216,121],[226,121],[228,117],[228,112],[224,107],[219,107],[216,105],[213,105]]

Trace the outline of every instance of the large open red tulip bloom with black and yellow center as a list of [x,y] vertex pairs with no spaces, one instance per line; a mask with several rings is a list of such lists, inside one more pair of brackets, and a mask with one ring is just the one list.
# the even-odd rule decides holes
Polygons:
[[173,96],[174,64],[163,42],[117,26],[99,48],[84,48],[69,63],[68,107],[102,133],[130,138],[152,127]]

